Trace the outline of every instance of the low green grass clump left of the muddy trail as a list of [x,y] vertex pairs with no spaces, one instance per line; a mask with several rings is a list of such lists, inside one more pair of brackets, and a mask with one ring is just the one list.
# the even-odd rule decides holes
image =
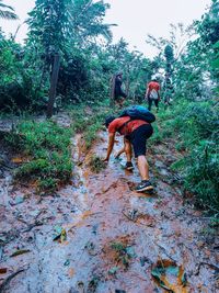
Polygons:
[[71,178],[71,132],[54,122],[23,121],[7,142],[27,158],[14,173],[20,181],[36,182],[39,191],[55,191]]

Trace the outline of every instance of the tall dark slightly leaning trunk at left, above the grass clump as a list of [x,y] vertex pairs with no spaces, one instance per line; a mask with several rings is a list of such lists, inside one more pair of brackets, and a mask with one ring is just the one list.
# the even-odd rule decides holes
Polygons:
[[54,112],[54,103],[56,100],[56,88],[57,88],[57,82],[58,82],[59,68],[60,68],[60,56],[56,54],[54,56],[54,65],[53,65],[53,70],[51,70],[49,100],[48,100],[48,106],[47,106],[47,119],[50,119]]

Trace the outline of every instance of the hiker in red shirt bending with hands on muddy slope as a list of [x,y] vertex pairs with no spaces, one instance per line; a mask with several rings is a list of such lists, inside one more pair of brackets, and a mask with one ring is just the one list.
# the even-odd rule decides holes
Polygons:
[[118,117],[110,116],[105,120],[105,126],[108,129],[108,146],[104,161],[110,160],[114,147],[115,134],[118,132],[125,138],[125,153],[127,157],[126,168],[128,170],[134,168],[131,162],[131,147],[137,158],[138,170],[141,177],[141,182],[135,189],[137,192],[153,190],[149,181],[146,143],[153,133],[151,123],[154,121],[154,115],[140,105],[127,108]]

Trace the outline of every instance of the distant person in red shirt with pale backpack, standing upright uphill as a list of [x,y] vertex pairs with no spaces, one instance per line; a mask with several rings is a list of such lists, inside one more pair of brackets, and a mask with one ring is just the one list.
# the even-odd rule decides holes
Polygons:
[[160,98],[160,84],[155,78],[148,83],[146,91],[146,99],[148,100],[148,110],[149,111],[151,110],[152,103],[154,102],[158,112],[159,101],[161,100],[161,98]]

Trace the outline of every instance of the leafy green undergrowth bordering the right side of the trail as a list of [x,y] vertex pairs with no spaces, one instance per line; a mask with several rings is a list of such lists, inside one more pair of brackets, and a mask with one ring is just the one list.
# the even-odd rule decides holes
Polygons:
[[153,144],[171,137],[184,158],[173,164],[184,177],[184,187],[196,204],[219,215],[219,120],[218,103],[178,101],[158,115]]

